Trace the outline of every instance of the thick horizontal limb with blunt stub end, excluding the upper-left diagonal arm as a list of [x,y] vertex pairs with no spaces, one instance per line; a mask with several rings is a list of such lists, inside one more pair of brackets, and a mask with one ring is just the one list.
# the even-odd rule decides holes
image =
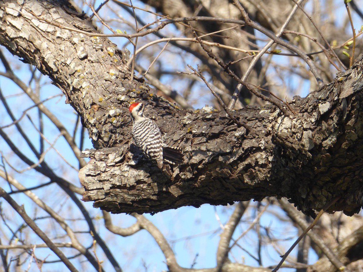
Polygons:
[[291,117],[272,106],[234,112],[256,134],[245,135],[219,112],[173,112],[168,122],[158,123],[184,151],[185,162],[171,177],[148,162],[138,163],[143,158],[129,145],[92,151],[80,172],[83,200],[114,213],[155,213],[274,195],[314,217],[313,210],[340,197],[328,211],[356,213],[363,193],[361,71],[360,59],[324,88],[295,97],[290,106],[297,114]]

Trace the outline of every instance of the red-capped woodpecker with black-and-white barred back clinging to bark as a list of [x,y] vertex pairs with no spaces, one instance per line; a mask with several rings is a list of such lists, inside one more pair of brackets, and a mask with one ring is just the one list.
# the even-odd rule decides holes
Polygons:
[[142,153],[158,167],[163,168],[163,159],[171,164],[182,162],[183,155],[173,147],[163,146],[159,127],[144,116],[144,104],[132,103],[129,107],[132,120],[132,139]]

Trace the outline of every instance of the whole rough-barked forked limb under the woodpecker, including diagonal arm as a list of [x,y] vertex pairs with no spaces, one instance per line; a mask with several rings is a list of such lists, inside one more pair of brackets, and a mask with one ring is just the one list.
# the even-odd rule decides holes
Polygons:
[[[0,3],[0,44],[35,65],[66,95],[88,129],[95,150],[79,172],[84,201],[112,213],[156,213],[203,203],[226,205],[286,197],[314,217],[352,215],[362,207],[363,60],[333,82],[290,101],[283,115],[272,105],[233,115],[183,111],[130,81],[127,56],[97,33],[66,1],[6,0]],[[179,147],[184,163],[161,171],[143,158],[131,139],[131,102],[148,103],[145,114]]]

